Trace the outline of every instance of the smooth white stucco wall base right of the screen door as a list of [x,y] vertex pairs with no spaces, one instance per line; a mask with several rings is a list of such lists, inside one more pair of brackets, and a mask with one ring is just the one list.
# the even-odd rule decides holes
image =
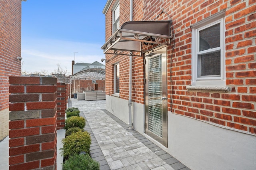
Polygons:
[[256,136],[170,112],[168,152],[192,170],[256,170]]

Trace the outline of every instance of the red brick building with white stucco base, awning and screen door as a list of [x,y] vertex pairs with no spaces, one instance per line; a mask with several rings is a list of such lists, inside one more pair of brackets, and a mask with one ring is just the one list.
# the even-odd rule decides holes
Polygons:
[[106,109],[191,169],[255,169],[255,11],[108,0]]

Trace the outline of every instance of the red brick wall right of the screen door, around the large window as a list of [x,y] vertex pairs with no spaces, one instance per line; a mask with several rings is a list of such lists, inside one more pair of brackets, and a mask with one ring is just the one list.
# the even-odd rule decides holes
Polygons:
[[[176,42],[171,69],[172,112],[256,134],[256,3],[212,0],[175,4],[173,1],[170,9],[165,8],[173,20]],[[190,26],[223,9],[226,10],[226,85],[232,90],[228,93],[187,91],[186,86],[191,84]]]

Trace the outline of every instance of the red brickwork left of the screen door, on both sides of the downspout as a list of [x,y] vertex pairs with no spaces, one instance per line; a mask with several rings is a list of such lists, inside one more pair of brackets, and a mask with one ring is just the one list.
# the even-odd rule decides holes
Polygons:
[[[113,4],[110,9],[113,8]],[[139,5],[139,4],[138,4]],[[136,5],[136,6],[138,6]],[[130,20],[130,1],[120,1],[120,26],[122,23]],[[112,12],[109,10],[106,13],[106,40],[112,35]],[[129,57],[128,56],[113,56],[106,54],[106,94],[114,93],[114,64],[120,64],[120,79],[119,87],[120,98],[128,100],[129,96]],[[132,57],[132,101],[144,103],[144,66],[143,57]]]

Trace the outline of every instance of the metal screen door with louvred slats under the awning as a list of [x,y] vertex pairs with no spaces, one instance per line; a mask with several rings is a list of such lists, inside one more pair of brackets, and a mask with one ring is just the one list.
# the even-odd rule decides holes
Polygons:
[[146,56],[145,132],[167,147],[166,48]]

